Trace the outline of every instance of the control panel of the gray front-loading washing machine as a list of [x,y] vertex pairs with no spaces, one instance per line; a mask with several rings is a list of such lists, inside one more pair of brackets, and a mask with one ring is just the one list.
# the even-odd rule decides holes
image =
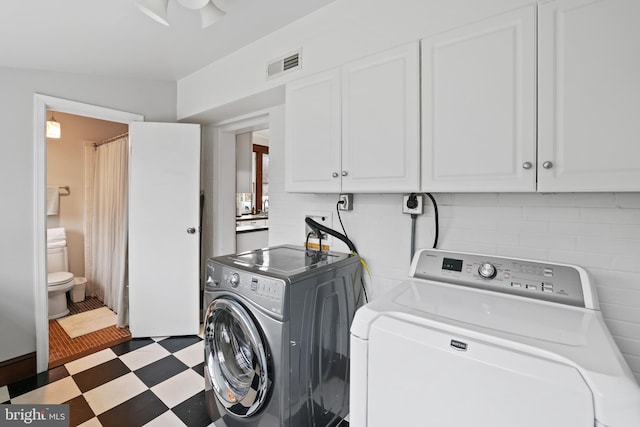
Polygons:
[[276,315],[284,307],[284,281],[207,261],[205,289],[226,290],[247,299]]

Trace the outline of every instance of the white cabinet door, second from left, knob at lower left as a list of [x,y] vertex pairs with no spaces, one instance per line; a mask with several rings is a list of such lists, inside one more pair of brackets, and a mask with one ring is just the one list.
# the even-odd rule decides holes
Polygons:
[[418,43],[343,67],[342,191],[420,187]]

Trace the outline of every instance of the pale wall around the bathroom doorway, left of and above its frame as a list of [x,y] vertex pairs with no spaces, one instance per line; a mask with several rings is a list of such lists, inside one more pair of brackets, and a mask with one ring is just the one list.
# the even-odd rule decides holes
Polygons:
[[[35,351],[34,93],[175,121],[175,84],[0,68],[0,361]],[[63,130],[64,132],[64,130]]]

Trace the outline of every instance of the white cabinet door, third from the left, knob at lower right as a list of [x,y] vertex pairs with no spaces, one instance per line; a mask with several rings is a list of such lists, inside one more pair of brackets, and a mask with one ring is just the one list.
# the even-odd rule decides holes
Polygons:
[[535,191],[536,7],[422,41],[422,190]]

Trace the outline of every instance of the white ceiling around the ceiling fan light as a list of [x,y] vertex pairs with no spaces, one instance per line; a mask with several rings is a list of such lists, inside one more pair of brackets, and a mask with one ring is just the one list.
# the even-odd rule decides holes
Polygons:
[[203,30],[176,0],[170,27],[134,0],[13,0],[0,14],[0,67],[174,81],[332,1],[214,0],[227,15]]

